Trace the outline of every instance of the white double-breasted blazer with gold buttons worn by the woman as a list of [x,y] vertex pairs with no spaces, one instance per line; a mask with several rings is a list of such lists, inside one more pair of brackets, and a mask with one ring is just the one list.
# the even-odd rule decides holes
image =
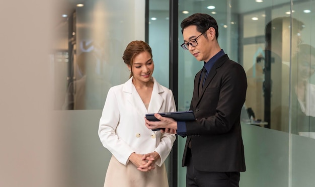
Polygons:
[[156,151],[161,166],[172,150],[176,136],[152,131],[145,126],[148,113],[176,111],[172,90],[160,85],[153,77],[151,100],[146,110],[131,77],[124,84],[109,89],[99,125],[99,137],[105,148],[122,164],[128,163],[131,153]]

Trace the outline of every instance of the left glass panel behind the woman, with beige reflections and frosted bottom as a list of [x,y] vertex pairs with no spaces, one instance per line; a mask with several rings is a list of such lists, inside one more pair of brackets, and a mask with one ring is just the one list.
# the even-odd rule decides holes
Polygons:
[[103,186],[111,153],[98,137],[99,120],[109,88],[129,79],[127,44],[145,40],[145,1],[58,3],[50,58],[65,173],[59,186]]

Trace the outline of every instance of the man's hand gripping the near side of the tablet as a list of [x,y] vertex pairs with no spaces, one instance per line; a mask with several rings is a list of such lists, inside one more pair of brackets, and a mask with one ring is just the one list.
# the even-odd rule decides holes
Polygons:
[[[145,126],[148,129],[157,129],[157,128],[165,128],[172,129],[172,131],[177,130],[177,121],[172,118],[162,117],[160,114],[155,113],[154,117],[160,121],[149,121],[144,117]],[[174,133],[172,133],[174,134]]]

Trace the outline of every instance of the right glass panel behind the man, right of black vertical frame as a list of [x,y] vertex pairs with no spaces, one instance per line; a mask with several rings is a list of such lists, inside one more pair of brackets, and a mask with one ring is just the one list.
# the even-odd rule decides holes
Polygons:
[[[311,186],[313,1],[182,0],[179,24],[198,12],[217,20],[220,47],[247,73],[246,115],[241,119],[247,171],[241,173],[240,185]],[[178,55],[178,109],[187,110],[203,63],[180,48]],[[178,186],[185,186],[186,168],[180,167],[184,145],[179,137]]]

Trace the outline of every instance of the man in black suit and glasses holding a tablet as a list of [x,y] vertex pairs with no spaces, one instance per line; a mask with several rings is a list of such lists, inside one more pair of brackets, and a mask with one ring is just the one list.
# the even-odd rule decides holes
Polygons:
[[154,114],[160,121],[145,120],[146,126],[176,129],[178,135],[187,136],[182,160],[182,166],[187,166],[187,186],[239,186],[240,171],[246,170],[240,124],[247,89],[245,71],[220,48],[214,18],[194,14],[181,27],[181,46],[204,62],[205,70],[195,76],[190,105],[196,120],[176,122]]

